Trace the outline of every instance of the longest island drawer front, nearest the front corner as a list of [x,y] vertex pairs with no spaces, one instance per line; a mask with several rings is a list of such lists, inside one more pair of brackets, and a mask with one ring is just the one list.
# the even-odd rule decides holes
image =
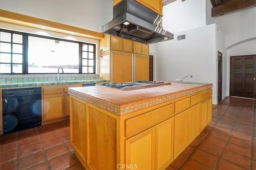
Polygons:
[[125,136],[131,136],[174,114],[174,104],[154,109],[125,121]]

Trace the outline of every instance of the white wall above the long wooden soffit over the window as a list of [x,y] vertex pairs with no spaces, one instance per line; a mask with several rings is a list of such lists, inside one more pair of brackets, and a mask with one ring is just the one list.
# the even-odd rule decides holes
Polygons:
[[92,31],[112,20],[112,0],[1,0],[0,8]]

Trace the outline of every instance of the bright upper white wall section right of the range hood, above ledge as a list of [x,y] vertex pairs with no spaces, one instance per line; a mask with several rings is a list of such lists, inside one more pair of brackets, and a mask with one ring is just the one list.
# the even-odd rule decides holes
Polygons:
[[206,25],[205,0],[177,0],[163,6],[163,28],[171,33]]

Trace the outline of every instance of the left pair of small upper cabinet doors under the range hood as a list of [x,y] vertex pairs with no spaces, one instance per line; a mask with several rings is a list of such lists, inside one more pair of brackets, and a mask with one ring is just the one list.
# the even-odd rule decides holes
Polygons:
[[132,53],[132,41],[111,36],[110,49]]

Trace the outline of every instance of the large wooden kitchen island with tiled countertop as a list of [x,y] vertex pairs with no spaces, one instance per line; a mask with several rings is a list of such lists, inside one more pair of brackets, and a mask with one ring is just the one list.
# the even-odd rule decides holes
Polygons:
[[68,93],[70,142],[86,169],[165,169],[212,119],[212,84]]

